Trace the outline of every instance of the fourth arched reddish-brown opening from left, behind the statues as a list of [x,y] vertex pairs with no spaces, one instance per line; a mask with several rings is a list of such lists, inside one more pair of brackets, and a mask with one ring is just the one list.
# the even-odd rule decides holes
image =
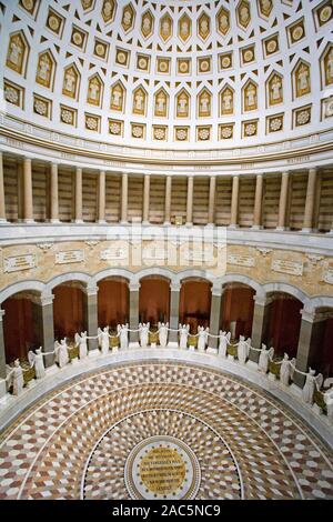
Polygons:
[[170,315],[170,280],[161,275],[148,275],[140,281],[139,320],[157,325],[168,322]]

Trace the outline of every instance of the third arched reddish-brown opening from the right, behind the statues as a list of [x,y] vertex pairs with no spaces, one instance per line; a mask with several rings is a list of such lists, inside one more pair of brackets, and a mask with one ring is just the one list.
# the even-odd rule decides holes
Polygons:
[[255,290],[242,283],[228,283],[223,288],[221,328],[233,339],[251,337]]

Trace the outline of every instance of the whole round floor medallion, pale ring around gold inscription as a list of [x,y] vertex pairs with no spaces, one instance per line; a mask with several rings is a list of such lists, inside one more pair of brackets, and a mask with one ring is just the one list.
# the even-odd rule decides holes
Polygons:
[[193,451],[179,439],[167,435],[137,444],[124,471],[132,499],[194,499],[201,479]]

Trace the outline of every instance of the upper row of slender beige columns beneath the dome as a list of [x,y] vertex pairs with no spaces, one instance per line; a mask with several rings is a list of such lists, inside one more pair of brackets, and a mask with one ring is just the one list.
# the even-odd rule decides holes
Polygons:
[[[48,221],[51,223],[59,223],[59,164],[50,163],[50,211]],[[105,180],[108,173],[105,170],[97,171],[98,175],[98,212],[97,222],[105,223]],[[129,173],[121,173],[121,201],[120,201],[120,222],[125,224],[129,222]],[[279,218],[276,230],[283,231],[289,229],[289,199],[291,192],[291,178],[292,173],[284,171],[281,172],[281,188],[280,188],[280,203],[279,203]],[[75,168],[74,174],[74,215],[73,222],[82,223],[82,178],[83,169]],[[164,184],[164,224],[171,223],[171,202],[172,202],[172,181],[173,177],[165,174]],[[216,211],[216,179],[218,175],[210,177],[209,182],[209,202],[208,202],[208,224],[215,223]],[[255,195],[253,208],[253,229],[262,228],[262,212],[263,212],[263,189],[264,175],[256,174],[255,177]],[[32,192],[32,160],[23,158],[22,160],[22,179],[23,179],[23,217],[24,223],[33,222],[33,192]],[[193,224],[193,184],[194,177],[188,175],[186,189],[186,225]],[[238,228],[239,225],[239,209],[240,209],[240,174],[232,175],[232,195],[231,195],[231,212],[230,212],[230,228]],[[316,185],[317,185],[317,170],[310,169],[307,172],[307,187],[306,198],[304,205],[303,217],[303,232],[312,232],[316,229]],[[142,222],[149,223],[150,213],[150,181],[151,174],[144,175],[143,194],[142,194]],[[140,198],[140,194],[138,194]],[[4,181],[3,181],[3,153],[0,152],[0,222],[6,222],[6,200],[4,200]],[[333,230],[333,221],[332,221]]]

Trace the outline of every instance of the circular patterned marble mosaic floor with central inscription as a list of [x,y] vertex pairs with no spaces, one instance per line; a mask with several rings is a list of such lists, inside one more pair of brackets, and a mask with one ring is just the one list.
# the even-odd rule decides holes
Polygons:
[[0,440],[0,499],[332,499],[332,452],[243,381],[169,361],[108,367]]

